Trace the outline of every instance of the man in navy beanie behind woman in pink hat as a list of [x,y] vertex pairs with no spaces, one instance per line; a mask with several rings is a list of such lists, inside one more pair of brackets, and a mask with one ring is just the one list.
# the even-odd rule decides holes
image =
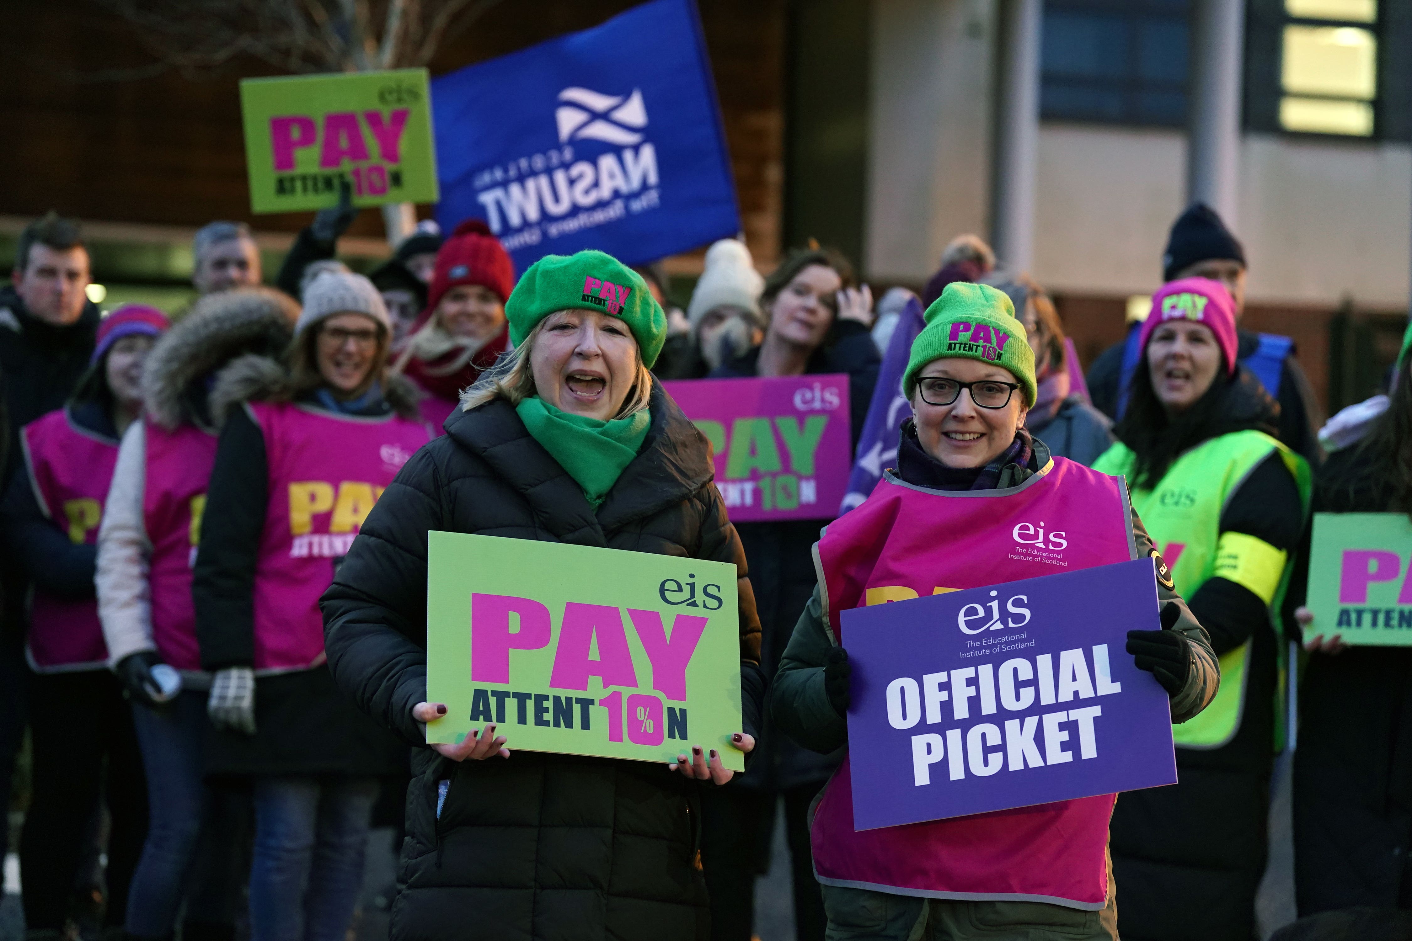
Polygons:
[[[1172,223],[1162,254],[1162,281],[1179,278],[1220,281],[1236,300],[1237,319],[1245,312],[1245,250],[1216,210],[1204,203],[1192,203]],[[1137,337],[1137,326],[1131,327],[1125,341],[1104,350],[1089,367],[1093,405],[1114,420],[1120,418],[1124,401],[1124,350]],[[1295,358],[1293,341],[1252,330],[1238,330],[1237,339],[1236,358],[1250,367],[1279,402],[1279,440],[1317,467],[1323,460],[1313,427],[1317,406],[1309,378]],[[1131,371],[1128,374],[1131,377]]]

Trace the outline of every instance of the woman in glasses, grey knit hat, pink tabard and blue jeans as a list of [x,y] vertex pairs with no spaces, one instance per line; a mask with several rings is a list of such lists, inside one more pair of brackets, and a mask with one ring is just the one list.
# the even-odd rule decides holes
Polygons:
[[431,440],[411,384],[387,377],[390,344],[377,288],[330,271],[304,292],[285,363],[246,357],[212,391],[220,440],[192,600],[212,674],[206,769],[254,791],[256,941],[343,937],[377,777],[405,766],[335,688],[318,605],[383,490]]

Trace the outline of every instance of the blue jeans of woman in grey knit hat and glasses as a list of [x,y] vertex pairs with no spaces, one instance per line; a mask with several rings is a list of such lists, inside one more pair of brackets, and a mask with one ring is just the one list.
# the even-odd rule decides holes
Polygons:
[[373,777],[257,777],[251,941],[343,941],[359,889]]

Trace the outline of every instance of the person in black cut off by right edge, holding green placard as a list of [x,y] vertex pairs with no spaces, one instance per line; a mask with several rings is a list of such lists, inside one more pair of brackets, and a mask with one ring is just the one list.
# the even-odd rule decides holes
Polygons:
[[[1412,326],[1402,339],[1387,409],[1361,440],[1329,454],[1317,471],[1315,512],[1388,514],[1404,522],[1412,514],[1409,351]],[[1412,546],[1377,547],[1399,560],[1392,570],[1384,567],[1380,578],[1388,578],[1388,587],[1405,585]],[[1306,530],[1288,605],[1295,608],[1309,650],[1299,683],[1295,752],[1295,903],[1300,917],[1354,906],[1412,909],[1412,782],[1406,777],[1412,769],[1412,648],[1350,646],[1329,633],[1332,625],[1302,607],[1309,549]],[[1323,573],[1324,578],[1339,576],[1336,566]],[[1406,588],[1398,594],[1402,602]]]

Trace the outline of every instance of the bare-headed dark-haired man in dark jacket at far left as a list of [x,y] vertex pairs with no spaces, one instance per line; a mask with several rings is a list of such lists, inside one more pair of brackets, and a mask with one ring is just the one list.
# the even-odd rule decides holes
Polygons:
[[[88,368],[99,309],[88,299],[89,257],[78,221],[49,213],[20,233],[10,286],[0,288],[0,467],[8,484],[21,459],[20,429],[62,408]],[[25,725],[25,585],[13,561],[23,546],[3,546],[0,587],[0,793],[10,793]],[[0,827],[0,855],[6,832]]]

